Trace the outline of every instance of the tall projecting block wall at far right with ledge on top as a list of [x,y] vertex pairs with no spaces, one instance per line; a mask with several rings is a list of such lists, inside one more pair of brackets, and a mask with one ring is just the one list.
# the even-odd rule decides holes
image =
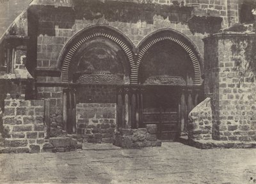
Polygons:
[[[214,43],[214,44],[213,44]],[[255,141],[255,34],[215,34],[205,39],[205,95],[213,96],[214,139]],[[205,72],[206,74],[207,72]],[[216,102],[215,102],[216,101]]]

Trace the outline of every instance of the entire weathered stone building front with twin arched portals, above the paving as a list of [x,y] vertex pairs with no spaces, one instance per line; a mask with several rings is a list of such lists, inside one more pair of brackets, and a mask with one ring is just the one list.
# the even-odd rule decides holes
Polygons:
[[[1,146],[69,151],[77,148],[74,138],[160,146],[143,107],[159,113],[149,123],[169,122],[161,113],[163,96],[172,93],[146,102],[147,86],[177,93],[167,98],[181,119],[179,134],[189,121],[191,140],[255,141],[255,33],[218,34],[234,30],[243,3],[33,1],[0,39]],[[197,105],[204,97],[211,102]]]

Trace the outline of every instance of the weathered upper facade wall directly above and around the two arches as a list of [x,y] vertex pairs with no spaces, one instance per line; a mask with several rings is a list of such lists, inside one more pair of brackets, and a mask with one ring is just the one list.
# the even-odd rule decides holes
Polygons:
[[[116,10],[127,11],[125,19],[122,18],[122,15],[119,15],[120,13],[116,13],[120,11],[112,9],[114,6]],[[136,8],[137,6],[140,9]],[[97,10],[95,10],[96,7]],[[209,19],[213,15],[209,15],[204,19],[191,20],[193,8],[186,6],[181,8],[179,6],[170,6],[169,10],[166,5],[156,4],[115,1],[109,1],[104,4],[93,3],[92,1],[84,1],[83,3],[75,1],[74,8],[76,11],[63,6],[58,8],[57,6],[31,6],[30,11],[35,17],[38,17],[37,68],[57,68],[60,64],[57,63],[59,54],[68,40],[78,31],[93,25],[114,27],[125,34],[134,45],[138,45],[148,34],[159,29],[175,29],[188,36],[196,44],[202,55],[204,53],[202,38],[221,29],[221,20]],[[85,9],[82,10],[83,8]],[[163,11],[160,11],[162,10],[161,8]],[[89,10],[87,11],[87,9]],[[146,10],[150,11],[150,13],[147,13]],[[87,13],[83,13],[84,11]],[[164,12],[166,13],[164,14]],[[118,16],[120,16],[120,19],[116,18]],[[192,22],[188,23],[188,21]],[[209,21],[211,24],[209,24]],[[197,24],[200,24],[200,26],[196,26]],[[218,24],[219,26],[212,24]],[[191,25],[192,28],[190,27]]]

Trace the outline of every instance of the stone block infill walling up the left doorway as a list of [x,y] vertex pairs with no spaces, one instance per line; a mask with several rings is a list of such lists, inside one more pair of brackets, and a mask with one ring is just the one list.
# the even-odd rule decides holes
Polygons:
[[77,104],[77,137],[93,143],[113,143],[116,104]]

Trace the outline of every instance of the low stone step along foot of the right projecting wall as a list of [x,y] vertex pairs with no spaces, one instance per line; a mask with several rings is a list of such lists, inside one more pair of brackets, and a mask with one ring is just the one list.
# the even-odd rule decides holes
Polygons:
[[182,136],[177,141],[193,146],[199,149],[212,149],[212,148],[256,148],[256,142],[251,141],[216,141],[216,140],[196,140],[188,139],[188,136]]

